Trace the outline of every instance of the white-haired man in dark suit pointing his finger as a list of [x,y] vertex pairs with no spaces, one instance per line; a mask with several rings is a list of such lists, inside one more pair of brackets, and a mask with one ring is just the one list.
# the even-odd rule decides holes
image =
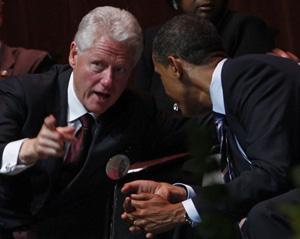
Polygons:
[[141,51],[135,17],[98,7],[83,17],[68,66],[0,82],[4,238],[20,230],[38,238],[103,238],[114,185],[108,160],[182,148],[183,122],[126,89]]

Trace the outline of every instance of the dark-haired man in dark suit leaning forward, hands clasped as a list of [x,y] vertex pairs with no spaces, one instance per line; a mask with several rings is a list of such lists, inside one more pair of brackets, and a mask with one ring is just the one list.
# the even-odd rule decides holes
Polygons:
[[196,15],[174,17],[160,29],[153,61],[184,115],[214,112],[225,180],[218,187],[224,194],[208,200],[213,186],[125,184],[124,192],[136,193],[126,198],[122,215],[133,222],[130,230],[143,228],[150,238],[217,214],[233,222],[248,217],[243,229],[249,238],[289,238],[277,206],[300,200],[290,178],[299,163],[297,63],[271,55],[226,58],[215,27]]

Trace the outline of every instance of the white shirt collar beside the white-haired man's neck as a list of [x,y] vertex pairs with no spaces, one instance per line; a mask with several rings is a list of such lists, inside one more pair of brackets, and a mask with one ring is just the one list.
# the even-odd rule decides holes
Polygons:
[[69,85],[68,85],[68,123],[72,123],[79,117],[88,113],[86,108],[78,99],[74,90],[74,77],[73,72],[71,73]]

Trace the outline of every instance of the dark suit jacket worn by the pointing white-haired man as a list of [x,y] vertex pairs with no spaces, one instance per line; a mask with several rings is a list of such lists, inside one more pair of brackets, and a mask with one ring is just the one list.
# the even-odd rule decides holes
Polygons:
[[[68,66],[55,66],[44,74],[0,81],[1,159],[7,143],[35,137],[47,115],[53,114],[57,125],[66,125],[70,74]],[[40,160],[15,176],[0,175],[2,228],[31,223],[34,217],[55,222],[72,215],[69,222],[77,225],[72,230],[103,232],[115,183],[105,174],[108,159],[122,153],[132,162],[145,160],[180,151],[184,145],[183,121],[162,117],[150,99],[129,90],[96,124],[85,164],[62,192],[56,189],[62,158]],[[61,225],[56,226],[54,232]]]

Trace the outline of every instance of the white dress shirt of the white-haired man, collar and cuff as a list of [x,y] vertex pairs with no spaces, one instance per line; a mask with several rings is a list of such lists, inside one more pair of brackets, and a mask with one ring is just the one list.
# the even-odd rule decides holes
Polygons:
[[[81,127],[79,118],[86,113],[87,110],[81,104],[81,102],[75,94],[72,73],[68,84],[68,125],[75,127],[75,131],[77,131]],[[94,117],[94,115],[92,116]],[[7,175],[15,175],[32,166],[18,164],[18,156],[24,140],[26,140],[26,138],[10,142],[6,145],[2,155],[2,166],[0,169],[0,173]],[[68,145],[66,145],[66,147],[68,147]]]

